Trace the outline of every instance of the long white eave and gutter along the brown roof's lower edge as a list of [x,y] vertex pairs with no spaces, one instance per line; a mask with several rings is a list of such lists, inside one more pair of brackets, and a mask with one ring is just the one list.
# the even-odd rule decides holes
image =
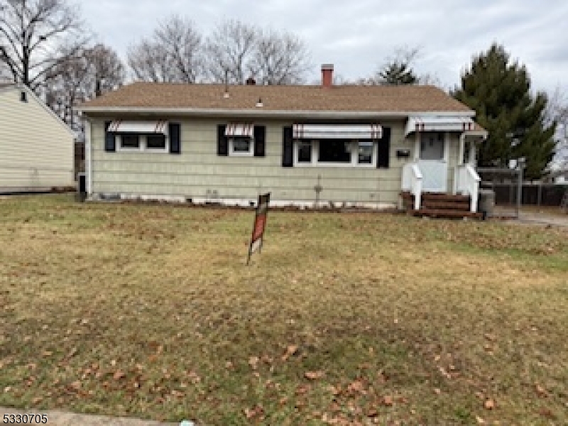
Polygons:
[[261,118],[321,118],[321,119],[363,119],[407,118],[412,115],[431,116],[475,116],[475,111],[310,111],[310,110],[266,110],[266,109],[202,109],[202,108],[151,108],[151,107],[83,107],[82,114],[122,113],[153,115],[187,115],[210,117],[261,117]]

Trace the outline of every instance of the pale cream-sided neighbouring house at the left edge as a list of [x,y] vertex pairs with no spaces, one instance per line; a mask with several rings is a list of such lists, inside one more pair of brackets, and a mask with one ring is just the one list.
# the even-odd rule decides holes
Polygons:
[[0,192],[72,185],[72,131],[28,87],[0,84]]

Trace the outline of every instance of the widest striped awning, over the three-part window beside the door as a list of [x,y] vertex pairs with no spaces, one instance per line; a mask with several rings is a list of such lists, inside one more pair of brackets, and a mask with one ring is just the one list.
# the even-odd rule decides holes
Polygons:
[[295,139],[380,139],[379,124],[294,124]]

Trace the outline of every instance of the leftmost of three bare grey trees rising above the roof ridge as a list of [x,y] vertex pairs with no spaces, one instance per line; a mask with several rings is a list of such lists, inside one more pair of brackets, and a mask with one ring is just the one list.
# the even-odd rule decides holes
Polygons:
[[201,35],[191,21],[171,16],[150,39],[131,45],[128,63],[138,80],[195,83],[203,73]]

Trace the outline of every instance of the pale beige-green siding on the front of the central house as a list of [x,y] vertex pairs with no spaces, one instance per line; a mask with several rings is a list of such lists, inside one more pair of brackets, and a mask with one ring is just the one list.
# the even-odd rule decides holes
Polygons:
[[[113,119],[109,117],[107,120]],[[125,197],[180,197],[196,200],[253,201],[260,192],[271,192],[280,202],[315,202],[320,182],[320,202],[395,205],[402,168],[414,158],[415,137],[404,136],[405,120],[380,120],[391,128],[390,167],[282,167],[283,126],[288,121],[255,121],[266,126],[266,157],[217,155],[217,125],[224,120],[180,119],[180,155],[148,152],[104,151],[104,118],[91,119],[92,194]],[[450,142],[449,186],[457,163],[457,138]],[[397,149],[410,150],[397,158]],[[320,180],[318,181],[318,176]]]

